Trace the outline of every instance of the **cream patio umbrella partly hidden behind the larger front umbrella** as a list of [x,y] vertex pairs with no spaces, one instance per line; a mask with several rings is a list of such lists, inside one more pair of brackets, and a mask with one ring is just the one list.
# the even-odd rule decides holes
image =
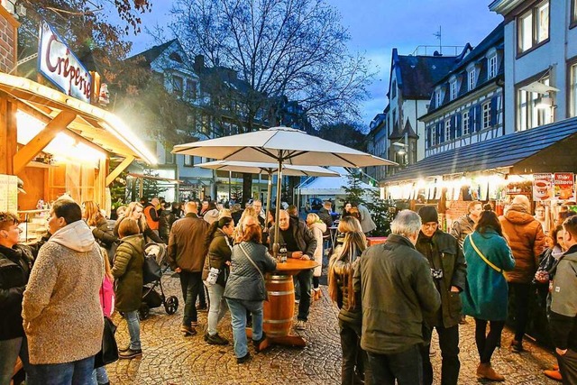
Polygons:
[[[279,169],[278,163],[258,163],[254,161],[215,160],[197,165],[204,169],[224,170],[233,172],[249,172],[251,174],[266,173],[269,175],[267,210],[270,210],[270,190],[272,189],[272,174]],[[339,173],[320,166],[282,165],[284,175],[294,177],[340,177]],[[278,195],[278,194],[277,194]]]

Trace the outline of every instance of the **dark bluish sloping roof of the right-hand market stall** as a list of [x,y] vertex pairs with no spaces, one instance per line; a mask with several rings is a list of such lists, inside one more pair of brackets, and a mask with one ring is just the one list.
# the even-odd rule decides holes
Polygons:
[[577,168],[576,133],[577,118],[565,119],[432,155],[383,183],[498,169],[513,174],[572,171]]

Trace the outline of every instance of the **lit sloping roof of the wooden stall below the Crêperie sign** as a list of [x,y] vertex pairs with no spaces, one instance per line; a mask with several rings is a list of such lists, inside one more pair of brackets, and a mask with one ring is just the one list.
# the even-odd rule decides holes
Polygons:
[[28,78],[0,72],[0,93],[14,100],[20,111],[49,124],[66,113],[74,119],[67,131],[88,145],[124,158],[156,164],[156,157],[116,115]]

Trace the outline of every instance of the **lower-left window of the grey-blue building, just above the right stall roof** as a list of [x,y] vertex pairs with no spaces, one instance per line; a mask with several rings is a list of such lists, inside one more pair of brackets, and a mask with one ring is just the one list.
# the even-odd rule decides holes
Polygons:
[[[549,78],[542,78],[541,83],[549,86]],[[537,92],[529,92],[517,88],[517,131],[525,131],[543,124],[553,122],[552,107],[537,108],[537,99],[544,96]],[[550,94],[545,96],[551,97]]]

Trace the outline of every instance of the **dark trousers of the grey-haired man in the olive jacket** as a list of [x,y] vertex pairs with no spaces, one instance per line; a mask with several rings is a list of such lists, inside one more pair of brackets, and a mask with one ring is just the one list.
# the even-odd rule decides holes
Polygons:
[[379,385],[420,385],[423,383],[423,364],[418,345],[401,353],[378,354],[367,352],[372,383]]

